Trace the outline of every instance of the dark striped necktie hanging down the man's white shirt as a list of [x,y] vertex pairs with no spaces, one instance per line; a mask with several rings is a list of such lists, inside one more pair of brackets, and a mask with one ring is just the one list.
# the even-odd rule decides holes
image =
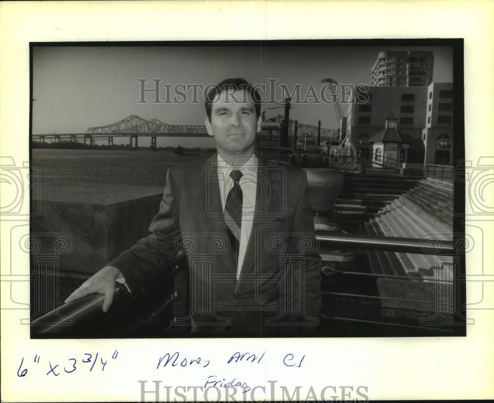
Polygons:
[[233,260],[237,264],[235,271],[237,271],[239,264],[240,229],[242,228],[242,204],[244,202],[244,194],[239,183],[240,178],[242,178],[242,172],[239,170],[231,171],[230,177],[233,179],[233,187],[226,199],[225,221],[228,226],[226,232],[230,239]]

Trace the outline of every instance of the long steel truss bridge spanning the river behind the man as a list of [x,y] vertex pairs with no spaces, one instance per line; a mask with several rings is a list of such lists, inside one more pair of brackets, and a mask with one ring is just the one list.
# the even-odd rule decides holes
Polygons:
[[[281,123],[277,118],[263,123],[261,136],[269,132],[270,137],[274,130],[273,123]],[[304,140],[310,139],[312,143],[318,139],[318,145],[321,141],[331,141],[337,139],[337,130],[321,128],[319,125],[303,124],[298,121],[289,121],[288,136],[293,137],[293,143],[296,144],[297,132],[303,136]],[[146,120],[136,115],[130,115],[121,121],[107,124],[105,126],[89,127],[85,133],[49,133],[33,135],[33,141],[45,142],[54,140],[55,143],[62,141],[78,142],[82,140],[84,144],[94,145],[96,140],[108,140],[108,145],[113,145],[114,137],[128,137],[130,148],[138,148],[139,137],[151,137],[151,149],[156,150],[158,137],[208,137],[206,127],[202,124],[168,124],[158,119]],[[324,144],[324,143],[323,143]]]

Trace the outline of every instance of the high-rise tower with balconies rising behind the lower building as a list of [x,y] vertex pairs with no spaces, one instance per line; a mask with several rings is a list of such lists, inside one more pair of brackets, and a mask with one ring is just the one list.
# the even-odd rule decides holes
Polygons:
[[372,67],[371,85],[417,87],[432,82],[434,53],[431,51],[379,52]]

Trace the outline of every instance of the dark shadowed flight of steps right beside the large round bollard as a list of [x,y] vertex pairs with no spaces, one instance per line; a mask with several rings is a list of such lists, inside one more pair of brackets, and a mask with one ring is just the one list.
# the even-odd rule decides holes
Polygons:
[[343,188],[334,205],[334,218],[347,232],[372,219],[382,207],[417,185],[420,178],[392,172],[343,172]]

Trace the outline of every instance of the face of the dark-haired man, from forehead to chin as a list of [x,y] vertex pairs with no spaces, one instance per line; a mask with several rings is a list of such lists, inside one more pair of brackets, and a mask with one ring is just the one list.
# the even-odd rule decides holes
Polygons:
[[251,155],[255,137],[261,129],[261,117],[255,116],[254,103],[244,90],[223,92],[212,103],[211,121],[206,130],[214,136],[218,151],[229,155]]

